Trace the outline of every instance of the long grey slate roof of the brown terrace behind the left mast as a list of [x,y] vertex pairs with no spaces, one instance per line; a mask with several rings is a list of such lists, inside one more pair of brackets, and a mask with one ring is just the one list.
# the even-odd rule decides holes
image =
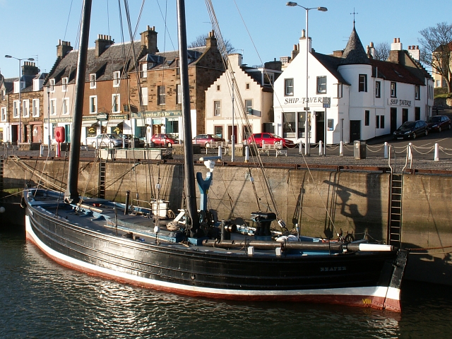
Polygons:
[[[96,74],[97,81],[107,81],[113,80],[114,71],[131,71],[133,69],[131,48],[135,49],[137,58],[142,56],[141,41],[111,44],[99,57],[95,57],[95,47],[88,48],[85,82],[89,81],[91,73]],[[75,83],[77,58],[76,50],[72,50],[64,58],[58,58],[47,81],[49,78],[54,78],[55,85],[61,85],[61,78],[69,77],[69,83]]]

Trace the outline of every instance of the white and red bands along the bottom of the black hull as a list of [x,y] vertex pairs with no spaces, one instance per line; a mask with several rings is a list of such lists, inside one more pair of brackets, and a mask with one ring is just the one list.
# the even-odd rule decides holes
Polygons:
[[322,290],[226,290],[209,287],[196,287],[167,283],[165,281],[141,278],[136,275],[109,270],[100,266],[76,260],[65,256],[45,245],[32,231],[30,217],[25,216],[26,237],[41,249],[49,258],[61,264],[102,278],[117,280],[121,283],[137,285],[164,292],[188,295],[191,297],[207,297],[214,299],[232,299],[249,301],[278,302],[315,302],[329,304],[344,304],[374,309],[388,309],[400,312],[400,290],[391,287],[350,287]]

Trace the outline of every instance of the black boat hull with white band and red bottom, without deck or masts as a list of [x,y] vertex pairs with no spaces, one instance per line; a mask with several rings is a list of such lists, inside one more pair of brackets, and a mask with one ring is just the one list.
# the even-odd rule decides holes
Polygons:
[[[28,206],[27,238],[61,265],[165,292],[251,301],[325,302],[400,311],[397,254],[275,256],[149,244]],[[402,271],[403,273],[403,271]]]

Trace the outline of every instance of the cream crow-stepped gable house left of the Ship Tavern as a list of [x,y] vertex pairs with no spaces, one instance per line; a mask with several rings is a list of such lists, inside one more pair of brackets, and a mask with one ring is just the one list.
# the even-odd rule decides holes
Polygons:
[[[280,76],[280,61],[254,68],[242,64],[242,54],[230,54],[228,58],[230,69],[206,90],[206,133],[231,141],[232,112],[236,143],[242,143],[249,133],[273,132],[272,85]],[[234,95],[232,75],[235,78]]]

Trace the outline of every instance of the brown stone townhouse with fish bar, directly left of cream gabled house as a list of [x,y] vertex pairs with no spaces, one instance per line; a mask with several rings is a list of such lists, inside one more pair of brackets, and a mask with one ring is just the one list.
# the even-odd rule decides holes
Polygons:
[[[179,52],[159,52],[155,31],[150,35],[150,46],[139,61],[139,71],[130,73],[133,132],[145,134],[148,142],[155,133],[169,133],[184,140]],[[187,52],[192,135],[196,136],[206,131],[206,90],[225,68],[213,31],[206,38],[206,46]]]

